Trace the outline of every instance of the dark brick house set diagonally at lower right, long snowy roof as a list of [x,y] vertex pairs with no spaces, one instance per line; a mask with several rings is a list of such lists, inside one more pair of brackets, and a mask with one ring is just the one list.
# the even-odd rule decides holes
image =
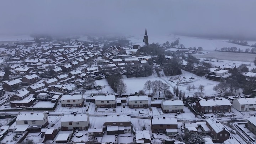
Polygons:
[[217,119],[206,119],[206,125],[210,129],[210,136],[216,143],[223,143],[225,140],[229,139],[230,133]]

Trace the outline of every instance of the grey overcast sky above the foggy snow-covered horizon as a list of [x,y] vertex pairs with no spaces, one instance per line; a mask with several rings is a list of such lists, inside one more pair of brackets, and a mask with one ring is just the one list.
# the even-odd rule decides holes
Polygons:
[[0,35],[183,34],[256,39],[255,0],[1,0]]

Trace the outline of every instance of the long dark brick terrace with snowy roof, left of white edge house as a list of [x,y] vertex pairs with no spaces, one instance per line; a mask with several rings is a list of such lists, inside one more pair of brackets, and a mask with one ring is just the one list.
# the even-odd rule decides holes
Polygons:
[[200,113],[230,112],[231,103],[225,98],[219,100],[200,100],[195,104],[195,109]]

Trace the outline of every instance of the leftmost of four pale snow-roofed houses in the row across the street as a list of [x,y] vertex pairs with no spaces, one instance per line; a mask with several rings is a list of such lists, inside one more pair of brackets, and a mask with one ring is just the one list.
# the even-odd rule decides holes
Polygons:
[[83,107],[84,98],[80,95],[63,95],[61,98],[62,107]]

